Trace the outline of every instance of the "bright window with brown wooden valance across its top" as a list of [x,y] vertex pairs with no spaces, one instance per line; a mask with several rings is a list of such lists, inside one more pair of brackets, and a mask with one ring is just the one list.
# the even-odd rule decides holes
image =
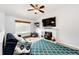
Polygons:
[[30,22],[16,20],[16,33],[30,33]]

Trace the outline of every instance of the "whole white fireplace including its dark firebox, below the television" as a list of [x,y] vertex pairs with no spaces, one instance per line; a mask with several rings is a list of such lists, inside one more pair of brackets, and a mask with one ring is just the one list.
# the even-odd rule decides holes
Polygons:
[[56,41],[58,38],[59,30],[57,28],[43,28],[41,31],[41,37],[47,40]]

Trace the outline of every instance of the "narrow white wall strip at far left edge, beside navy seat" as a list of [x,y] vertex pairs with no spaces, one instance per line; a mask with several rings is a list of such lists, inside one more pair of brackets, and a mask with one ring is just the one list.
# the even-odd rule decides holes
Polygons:
[[5,33],[5,14],[0,12],[0,55],[2,54],[2,42]]

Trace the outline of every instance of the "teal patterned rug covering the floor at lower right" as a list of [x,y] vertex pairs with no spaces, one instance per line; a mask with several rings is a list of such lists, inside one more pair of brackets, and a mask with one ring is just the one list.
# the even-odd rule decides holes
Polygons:
[[32,43],[31,55],[79,55],[79,51],[42,39]]

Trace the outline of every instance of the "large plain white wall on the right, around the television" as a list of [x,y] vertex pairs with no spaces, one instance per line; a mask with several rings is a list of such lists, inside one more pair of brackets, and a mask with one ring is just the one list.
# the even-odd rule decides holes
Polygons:
[[54,16],[56,16],[56,28],[59,32],[58,39],[62,43],[79,48],[79,5],[67,5],[57,9],[54,12],[42,16],[39,22],[43,18]]

